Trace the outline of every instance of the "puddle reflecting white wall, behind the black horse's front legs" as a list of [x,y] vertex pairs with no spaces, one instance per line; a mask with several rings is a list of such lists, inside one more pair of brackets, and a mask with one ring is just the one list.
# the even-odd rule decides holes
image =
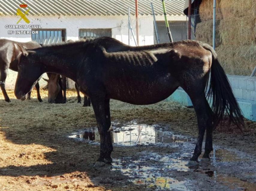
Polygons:
[[[175,135],[172,132],[163,131],[159,128],[156,129],[156,126],[153,125],[137,124],[134,121],[124,126],[120,126],[118,123],[113,124],[112,127],[112,142],[125,146],[133,146],[136,144],[182,143],[191,141],[191,138]],[[79,133],[73,133],[69,138],[100,142],[100,135],[96,127],[87,128]]]

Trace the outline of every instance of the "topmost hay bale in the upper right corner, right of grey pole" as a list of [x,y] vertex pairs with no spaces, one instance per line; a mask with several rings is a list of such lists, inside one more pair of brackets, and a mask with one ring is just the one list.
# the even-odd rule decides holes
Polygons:
[[255,17],[255,0],[222,0],[220,11],[223,18],[241,17],[250,15]]

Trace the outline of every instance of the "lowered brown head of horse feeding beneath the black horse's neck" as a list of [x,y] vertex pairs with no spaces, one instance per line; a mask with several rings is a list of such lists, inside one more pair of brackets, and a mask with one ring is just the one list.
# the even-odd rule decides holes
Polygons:
[[[61,103],[61,100],[57,99],[58,94],[61,92],[61,86],[59,81],[61,80],[59,74],[51,73],[49,79],[43,78],[47,81],[47,89],[48,89],[48,102],[49,103]],[[62,92],[61,92],[62,94]]]

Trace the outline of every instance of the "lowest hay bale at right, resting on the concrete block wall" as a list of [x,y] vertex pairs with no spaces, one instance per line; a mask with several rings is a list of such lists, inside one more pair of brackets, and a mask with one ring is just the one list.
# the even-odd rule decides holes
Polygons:
[[250,76],[256,64],[256,45],[219,46],[218,59],[227,74]]

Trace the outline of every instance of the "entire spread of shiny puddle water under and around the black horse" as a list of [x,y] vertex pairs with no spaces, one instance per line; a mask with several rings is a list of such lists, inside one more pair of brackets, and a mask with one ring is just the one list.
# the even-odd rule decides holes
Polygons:
[[[232,167],[240,165],[242,161],[246,161],[249,158],[244,153],[238,152],[237,150],[231,151],[228,148],[228,150],[216,148],[213,150],[211,161],[204,164],[204,167],[202,167],[203,162],[201,162],[196,167],[196,170],[190,169],[186,164],[192,156],[195,147],[195,141],[193,139],[164,131],[164,126],[137,124],[134,121],[125,126],[121,126],[118,123],[114,123],[112,126],[113,131],[111,136],[113,143],[124,146],[134,146],[137,144],[150,145],[150,147],[145,147],[145,151],[140,152],[140,156],[136,159],[127,157],[114,159],[112,162],[111,168],[113,171],[120,170],[123,175],[130,177],[131,181],[135,184],[144,184],[154,190],[186,191],[191,190],[192,185],[196,187],[197,183],[201,184],[200,181],[208,181],[211,184],[216,184],[215,188],[224,186],[226,188],[229,187],[231,190],[256,190],[256,184],[231,177],[226,174],[229,172],[224,170],[216,170],[216,167],[226,168],[228,165],[232,165]],[[69,137],[87,140],[91,143],[100,141],[97,128],[73,133]],[[157,152],[156,150],[152,152],[152,150],[147,150],[147,148],[154,147],[153,144],[156,144],[155,147],[162,147],[167,150],[171,148],[175,149],[172,152]],[[137,157],[138,155],[131,156]],[[252,165],[252,167],[254,166]],[[195,173],[201,173],[203,175],[202,180],[198,180]],[[186,177],[185,179],[184,176]]]

